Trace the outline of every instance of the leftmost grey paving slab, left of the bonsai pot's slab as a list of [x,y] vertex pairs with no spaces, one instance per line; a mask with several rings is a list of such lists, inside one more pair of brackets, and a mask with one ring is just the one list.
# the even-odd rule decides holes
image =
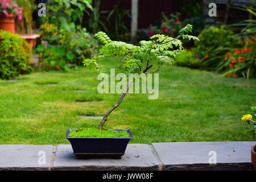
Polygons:
[[0,145],[0,170],[48,170],[52,150],[51,145]]

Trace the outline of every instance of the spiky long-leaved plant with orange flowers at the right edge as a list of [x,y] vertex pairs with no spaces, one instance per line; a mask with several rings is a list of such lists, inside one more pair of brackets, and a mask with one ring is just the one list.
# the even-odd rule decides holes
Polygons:
[[240,38],[241,45],[235,48],[226,48],[230,55],[226,55],[218,65],[218,70],[224,70],[225,76],[243,76],[249,79],[256,77],[256,20],[255,20],[255,1],[250,0],[252,6],[235,6],[237,9],[247,11],[254,16],[254,19],[244,20],[238,24],[232,24],[232,27],[243,27],[241,32],[235,36]]

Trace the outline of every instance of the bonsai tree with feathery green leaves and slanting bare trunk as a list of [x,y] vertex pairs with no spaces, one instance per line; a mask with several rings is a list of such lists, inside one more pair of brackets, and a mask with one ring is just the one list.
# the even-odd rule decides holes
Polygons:
[[[95,34],[95,37],[104,43],[104,46],[102,46],[100,53],[95,55],[93,59],[84,60],[84,65],[91,71],[96,69],[98,72],[104,73],[104,70],[98,64],[100,60],[105,57],[122,56],[123,59],[120,63],[120,67],[126,75],[129,73],[156,73],[160,71],[162,65],[172,65],[175,57],[184,51],[183,43],[180,39],[199,40],[196,36],[188,35],[187,33],[189,32],[192,32],[191,24],[187,24],[187,26],[182,28],[179,31],[180,35],[176,38],[160,34],[153,35],[150,37],[150,40],[141,41],[140,46],[113,41],[104,32],[98,32]],[[153,65],[156,65],[155,69]],[[133,80],[130,80],[117,104],[113,105],[104,115],[98,125],[99,130],[102,130],[109,114],[121,104],[132,82]]]

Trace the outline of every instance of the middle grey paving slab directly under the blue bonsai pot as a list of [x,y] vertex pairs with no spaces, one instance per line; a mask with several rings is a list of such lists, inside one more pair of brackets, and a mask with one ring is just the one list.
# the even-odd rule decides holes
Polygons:
[[148,144],[128,144],[122,159],[77,159],[71,145],[57,146],[53,170],[158,170]]

